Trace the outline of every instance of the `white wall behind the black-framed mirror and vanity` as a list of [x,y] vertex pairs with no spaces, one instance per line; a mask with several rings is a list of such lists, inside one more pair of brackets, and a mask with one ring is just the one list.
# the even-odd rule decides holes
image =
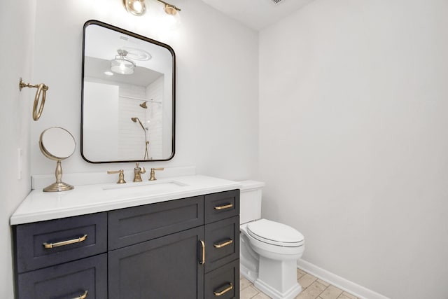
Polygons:
[[[200,174],[227,179],[247,179],[257,172],[258,33],[200,0],[174,4],[182,9],[182,25],[170,33],[151,15],[162,9],[155,1],[140,18],[127,13],[121,1],[37,1],[34,77],[50,90],[41,120],[31,127],[31,144],[47,127],[69,130],[78,148],[64,160],[64,173],[125,169],[128,178],[134,168],[130,163],[92,165],[80,156],[82,33],[90,19],[168,43],[176,52],[176,155],[142,167],[196,165]],[[54,162],[31,146],[31,174],[54,169]]]

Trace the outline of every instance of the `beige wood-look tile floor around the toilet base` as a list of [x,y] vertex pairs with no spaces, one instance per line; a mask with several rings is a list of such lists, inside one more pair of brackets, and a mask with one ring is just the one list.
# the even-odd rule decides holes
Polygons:
[[[295,299],[358,299],[358,297],[300,269],[297,269],[297,281],[302,286],[302,292]],[[251,281],[241,277],[239,279],[239,298],[269,299],[270,297],[255,288]]]

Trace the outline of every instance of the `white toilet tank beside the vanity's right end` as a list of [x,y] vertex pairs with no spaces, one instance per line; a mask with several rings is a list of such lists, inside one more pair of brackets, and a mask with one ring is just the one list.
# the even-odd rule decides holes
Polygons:
[[240,181],[239,223],[247,223],[261,218],[261,189],[265,183],[260,181]]

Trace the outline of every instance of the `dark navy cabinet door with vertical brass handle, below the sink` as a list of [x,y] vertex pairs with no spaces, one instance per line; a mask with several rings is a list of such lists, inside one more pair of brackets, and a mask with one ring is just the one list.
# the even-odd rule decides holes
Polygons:
[[202,299],[204,228],[109,251],[109,299]]

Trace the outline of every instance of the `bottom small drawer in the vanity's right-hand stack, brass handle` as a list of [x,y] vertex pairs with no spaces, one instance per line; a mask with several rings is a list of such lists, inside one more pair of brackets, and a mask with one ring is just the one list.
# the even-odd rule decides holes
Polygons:
[[239,298],[239,260],[205,274],[204,298]]

